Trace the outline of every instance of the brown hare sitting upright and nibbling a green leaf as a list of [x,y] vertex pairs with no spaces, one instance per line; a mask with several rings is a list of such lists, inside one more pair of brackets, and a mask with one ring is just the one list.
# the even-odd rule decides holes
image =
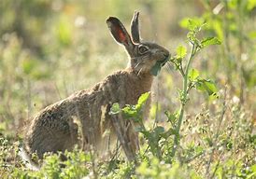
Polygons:
[[158,44],[140,41],[138,15],[135,11],[131,36],[119,19],[107,19],[110,34],[128,53],[128,67],[107,76],[91,90],[80,90],[39,112],[25,136],[23,148],[28,154],[43,158],[46,152],[72,149],[79,142],[80,124],[85,150],[93,146],[97,151],[106,145],[103,134],[108,130],[117,136],[126,157],[135,158],[138,142],[133,121],[123,120],[121,115],[110,116],[109,110],[113,103],[121,107],[135,104],[141,94],[150,91],[156,75],[152,68],[156,64],[163,66],[169,57],[169,51]]

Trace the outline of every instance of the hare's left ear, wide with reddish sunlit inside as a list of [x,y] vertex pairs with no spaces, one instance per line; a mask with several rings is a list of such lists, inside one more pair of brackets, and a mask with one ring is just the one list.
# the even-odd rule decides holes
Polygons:
[[107,26],[114,39],[130,52],[131,48],[134,47],[134,43],[121,21],[117,18],[109,17],[107,19]]

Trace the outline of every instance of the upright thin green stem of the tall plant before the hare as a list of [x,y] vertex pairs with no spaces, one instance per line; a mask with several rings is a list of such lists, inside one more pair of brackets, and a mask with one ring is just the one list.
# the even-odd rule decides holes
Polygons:
[[[192,63],[192,57],[194,56],[196,52],[196,46],[192,44],[192,51],[190,54],[189,62],[187,63],[186,70],[185,70],[185,76],[183,76],[183,90],[182,90],[182,97],[180,99],[180,109],[179,109],[179,116],[178,116],[178,124],[176,127],[176,134],[174,138],[174,145],[172,149],[172,157],[175,157],[178,145],[179,145],[179,131],[181,127],[181,123],[184,116],[185,111],[185,104],[187,103],[187,96],[188,96],[188,78],[189,78],[189,69]],[[182,74],[181,74],[182,75]]]

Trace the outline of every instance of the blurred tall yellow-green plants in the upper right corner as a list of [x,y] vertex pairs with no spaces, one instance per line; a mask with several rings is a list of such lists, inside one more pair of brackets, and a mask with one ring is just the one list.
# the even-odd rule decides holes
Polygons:
[[[206,11],[196,21],[207,21],[206,32],[216,34],[223,41],[217,56],[220,56],[220,70],[227,76],[228,84],[235,90],[239,87],[239,98],[244,103],[246,87],[255,84],[255,62],[253,53],[255,46],[255,29],[249,24],[256,7],[255,0],[220,0],[212,8],[210,1],[202,1]],[[186,27],[187,19],[181,21]],[[236,48],[236,50],[234,50]],[[236,78],[238,80],[233,80]]]

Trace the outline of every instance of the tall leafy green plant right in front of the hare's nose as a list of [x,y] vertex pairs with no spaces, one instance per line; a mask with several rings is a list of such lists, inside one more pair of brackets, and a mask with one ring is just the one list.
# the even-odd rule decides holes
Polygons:
[[[209,96],[216,96],[217,92],[215,83],[213,83],[212,80],[200,77],[198,70],[193,69],[191,65],[194,56],[200,50],[210,45],[220,45],[220,40],[216,37],[206,37],[202,40],[197,37],[197,34],[199,34],[202,28],[206,25],[206,23],[202,21],[189,19],[186,22],[186,25],[187,28],[190,30],[190,32],[187,34],[188,42],[192,46],[188,60],[187,62],[185,61],[185,57],[187,55],[187,48],[185,48],[184,46],[178,46],[176,50],[177,55],[170,60],[174,63],[175,68],[178,70],[179,74],[182,76],[183,79],[183,88],[182,90],[178,90],[180,101],[178,116],[167,116],[169,119],[173,117],[178,117],[177,119],[175,119],[176,123],[173,124],[173,127],[170,129],[171,131],[175,131],[174,144],[171,153],[172,157],[175,157],[176,151],[178,149],[180,140],[179,131],[184,116],[185,105],[189,101],[190,90],[192,90],[193,88],[196,88],[197,90],[203,90],[206,91]],[[184,62],[186,62],[185,65]]]

